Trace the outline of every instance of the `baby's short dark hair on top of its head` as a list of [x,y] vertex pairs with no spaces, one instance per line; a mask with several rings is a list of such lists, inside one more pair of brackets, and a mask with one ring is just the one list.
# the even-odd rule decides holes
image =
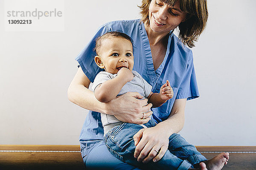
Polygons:
[[95,45],[94,50],[96,51],[97,55],[98,55],[98,51],[99,51],[100,47],[102,46],[102,41],[109,37],[120,37],[120,38],[129,40],[131,42],[132,47],[134,48],[133,40],[130,36],[128,36],[127,34],[122,33],[122,32],[112,31],[112,32],[107,32],[96,39],[96,45]]

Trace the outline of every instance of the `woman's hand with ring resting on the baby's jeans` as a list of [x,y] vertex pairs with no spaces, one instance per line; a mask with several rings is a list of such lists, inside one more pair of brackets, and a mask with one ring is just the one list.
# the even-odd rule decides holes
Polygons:
[[143,163],[153,159],[159,161],[166,153],[169,144],[169,134],[160,127],[143,128],[134,135],[136,145],[134,157]]

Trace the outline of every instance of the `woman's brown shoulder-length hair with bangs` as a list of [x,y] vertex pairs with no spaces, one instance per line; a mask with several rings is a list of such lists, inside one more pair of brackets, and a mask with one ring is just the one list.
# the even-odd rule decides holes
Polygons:
[[[169,6],[174,6],[177,0],[161,0]],[[190,48],[195,46],[195,41],[198,40],[200,34],[204,31],[207,23],[208,10],[207,0],[179,0],[180,9],[186,12],[186,21],[178,26],[180,40]],[[151,0],[142,0],[142,5],[139,6],[142,10],[143,23],[149,25],[148,9]]]

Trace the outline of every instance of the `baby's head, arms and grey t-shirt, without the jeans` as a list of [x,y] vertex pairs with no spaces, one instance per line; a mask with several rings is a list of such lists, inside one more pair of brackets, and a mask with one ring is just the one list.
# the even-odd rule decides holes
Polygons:
[[[152,93],[152,86],[133,71],[134,56],[132,39],[120,32],[109,32],[99,37],[96,41],[96,52],[94,60],[100,68],[100,72],[94,79],[93,91],[96,99],[100,102],[109,102],[116,96],[127,92],[137,92],[143,99],[147,98],[153,107],[163,105],[173,97],[172,87],[167,80],[161,87],[160,93]],[[116,125],[121,125],[113,115],[102,113],[102,125],[104,135]]]

